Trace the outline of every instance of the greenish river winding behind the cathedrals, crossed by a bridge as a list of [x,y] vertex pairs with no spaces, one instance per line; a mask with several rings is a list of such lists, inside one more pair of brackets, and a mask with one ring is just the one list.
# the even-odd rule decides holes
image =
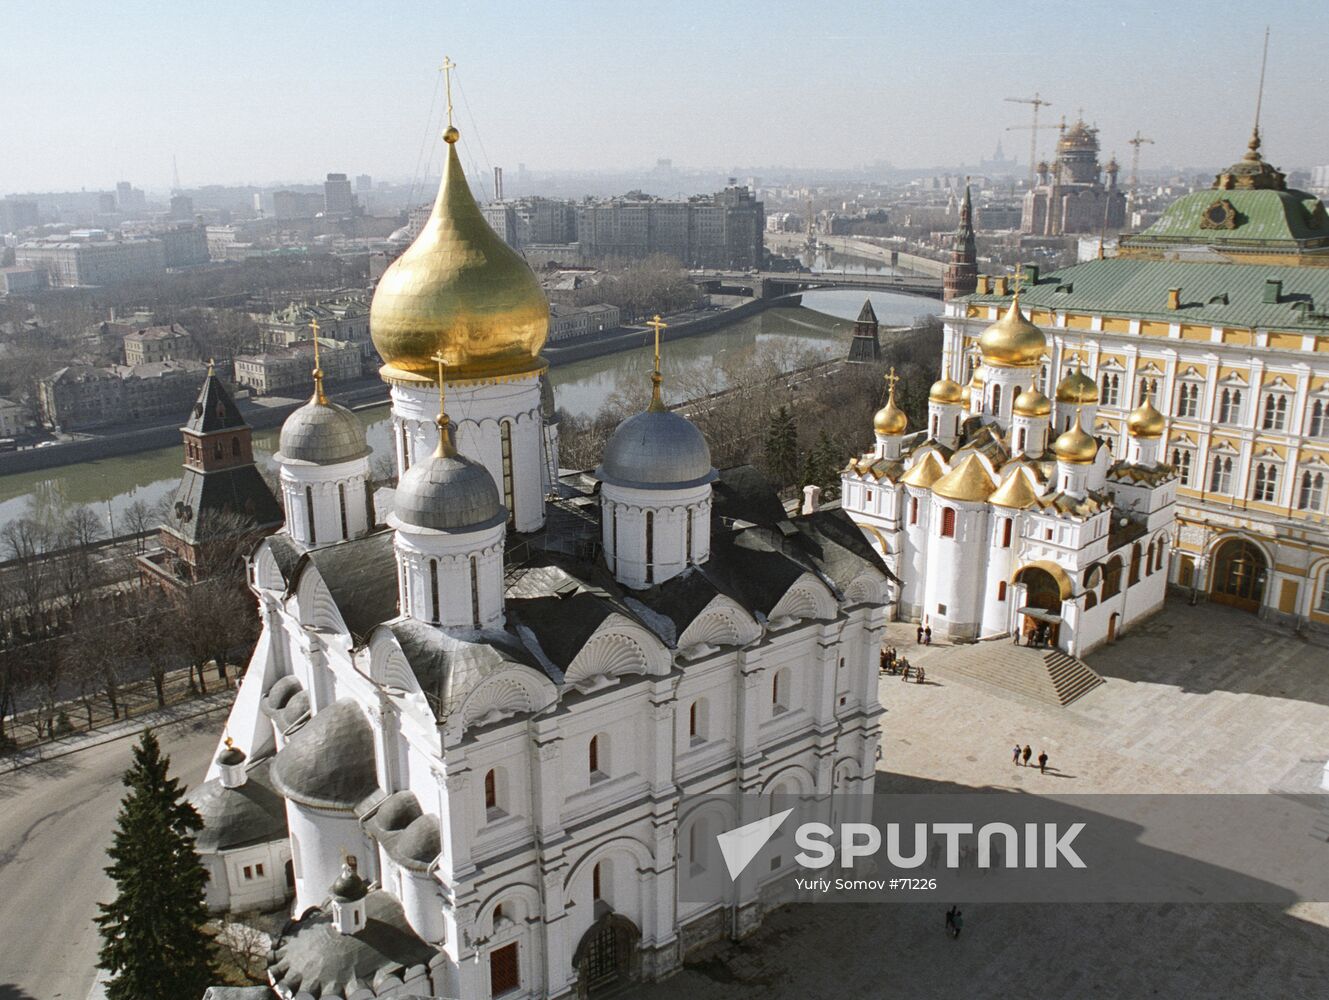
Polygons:
[[[827,358],[843,355],[848,350],[853,319],[865,297],[872,299],[882,326],[905,326],[916,316],[941,311],[940,302],[914,295],[878,291],[868,295],[851,290],[805,293],[803,306],[771,309],[714,332],[668,343],[663,352],[666,386],[671,371],[722,364],[727,358],[768,346],[812,350]],[[558,407],[567,414],[586,415],[594,414],[615,390],[625,386],[630,388],[634,382],[641,382],[643,387],[645,404],[649,370],[650,352],[643,335],[641,351],[621,351],[560,366],[550,370],[550,378]],[[375,452],[385,449],[391,419],[387,402],[361,410],[358,415]],[[275,427],[254,434],[254,453],[270,467],[278,435],[279,428]],[[126,529],[124,509],[136,500],[152,505],[169,495],[179,481],[179,469],[181,449],[173,447],[57,469],[0,476],[0,523],[21,516],[35,495],[57,492],[66,503],[92,505],[108,521],[108,527],[114,523],[114,531],[122,533]]]

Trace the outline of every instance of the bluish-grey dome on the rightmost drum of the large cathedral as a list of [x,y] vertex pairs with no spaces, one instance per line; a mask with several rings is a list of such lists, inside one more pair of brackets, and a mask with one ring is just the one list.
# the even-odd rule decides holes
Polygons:
[[711,448],[686,418],[647,410],[618,426],[595,476],[637,489],[686,489],[715,480]]

